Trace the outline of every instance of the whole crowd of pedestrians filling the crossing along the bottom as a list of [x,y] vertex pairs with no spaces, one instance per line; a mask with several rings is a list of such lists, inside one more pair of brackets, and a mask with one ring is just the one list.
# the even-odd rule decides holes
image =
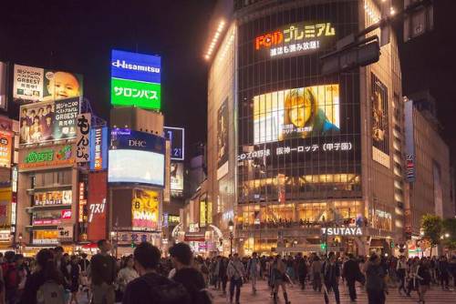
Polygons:
[[[456,289],[456,256],[450,258],[399,258],[372,254],[355,257],[330,252],[285,257],[276,255],[228,258],[194,257],[191,248],[179,243],[162,258],[159,248],[143,242],[134,254],[120,259],[109,254],[108,240],[98,241],[98,254],[70,256],[61,247],[41,249],[36,258],[13,251],[0,254],[0,304],[78,304],[86,293],[94,304],[212,303],[220,290],[230,303],[240,303],[241,290],[264,280],[271,298],[290,304],[287,289],[313,289],[326,303],[340,303],[339,285],[346,284],[356,302],[356,285],[363,287],[368,303],[385,303],[390,289],[403,297],[416,292],[425,303],[430,286]],[[228,289],[228,290],[227,290]],[[332,295],[333,294],[333,295]],[[78,298],[79,297],[79,298]]]

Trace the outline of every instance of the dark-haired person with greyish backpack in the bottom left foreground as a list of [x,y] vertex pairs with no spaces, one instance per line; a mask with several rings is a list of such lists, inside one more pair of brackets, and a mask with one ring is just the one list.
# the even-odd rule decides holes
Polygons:
[[20,304],[66,304],[63,278],[49,249],[36,255],[37,269],[26,279]]

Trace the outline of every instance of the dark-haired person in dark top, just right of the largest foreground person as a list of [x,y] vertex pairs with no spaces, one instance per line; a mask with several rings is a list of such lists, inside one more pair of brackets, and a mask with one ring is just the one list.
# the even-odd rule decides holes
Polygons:
[[192,249],[185,243],[178,243],[170,248],[172,264],[176,273],[173,280],[183,285],[190,295],[192,304],[212,303],[211,295],[206,289],[202,273],[192,267]]

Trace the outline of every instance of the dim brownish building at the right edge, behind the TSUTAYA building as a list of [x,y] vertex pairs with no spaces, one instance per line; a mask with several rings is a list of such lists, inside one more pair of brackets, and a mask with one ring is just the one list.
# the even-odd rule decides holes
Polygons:
[[[420,227],[424,215],[453,218],[450,149],[440,137],[435,100],[427,91],[404,98],[405,153],[408,202],[406,233],[409,254],[420,255]],[[418,246],[417,246],[418,245]],[[430,254],[430,248],[427,248]]]

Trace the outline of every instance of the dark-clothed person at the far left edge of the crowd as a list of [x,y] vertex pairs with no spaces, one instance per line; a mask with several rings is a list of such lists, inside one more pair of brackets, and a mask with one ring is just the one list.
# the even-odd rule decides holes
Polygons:
[[16,304],[17,290],[21,278],[16,267],[16,253],[14,251],[5,252],[5,263],[2,264],[3,278],[5,282],[5,303]]

